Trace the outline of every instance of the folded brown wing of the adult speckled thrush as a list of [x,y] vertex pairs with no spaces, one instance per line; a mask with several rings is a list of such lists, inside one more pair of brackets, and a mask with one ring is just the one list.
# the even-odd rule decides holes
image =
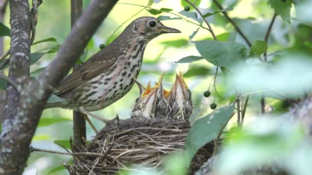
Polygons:
[[81,67],[68,75],[57,87],[55,95],[61,95],[101,73],[107,72],[116,63],[118,48],[106,47],[94,54]]

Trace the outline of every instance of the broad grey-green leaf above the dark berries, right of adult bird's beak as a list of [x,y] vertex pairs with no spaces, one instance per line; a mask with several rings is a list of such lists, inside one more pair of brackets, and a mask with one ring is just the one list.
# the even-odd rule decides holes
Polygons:
[[245,62],[247,49],[244,45],[228,41],[192,41],[198,52],[210,63],[226,68]]

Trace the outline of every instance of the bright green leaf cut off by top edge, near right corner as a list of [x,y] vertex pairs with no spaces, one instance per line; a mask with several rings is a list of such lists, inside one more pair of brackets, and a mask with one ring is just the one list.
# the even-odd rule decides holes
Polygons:
[[269,0],[268,4],[274,9],[275,13],[280,15],[284,20],[289,20],[290,18],[290,8],[293,4],[293,0]]

